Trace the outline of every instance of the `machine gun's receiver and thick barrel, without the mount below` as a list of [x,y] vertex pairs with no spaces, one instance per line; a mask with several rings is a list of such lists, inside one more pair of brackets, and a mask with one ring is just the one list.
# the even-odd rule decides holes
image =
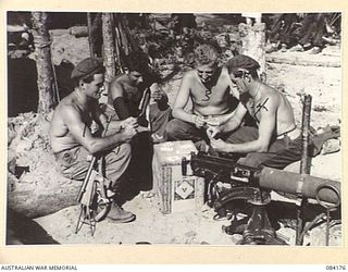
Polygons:
[[194,175],[197,176],[208,178],[213,176],[217,181],[238,186],[288,193],[336,206],[340,202],[340,184],[328,178],[271,168],[251,168],[233,159],[209,156],[204,152],[191,154],[190,165]]

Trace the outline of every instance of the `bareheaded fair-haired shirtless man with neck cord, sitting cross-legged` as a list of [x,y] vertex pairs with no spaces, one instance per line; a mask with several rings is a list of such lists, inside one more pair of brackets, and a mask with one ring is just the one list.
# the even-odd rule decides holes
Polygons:
[[[231,116],[232,82],[227,69],[217,66],[217,51],[211,45],[195,50],[196,69],[186,72],[173,106],[174,120],[165,127],[167,140],[192,140],[198,149],[209,144],[206,129],[223,125]],[[191,112],[186,111],[191,100]]]

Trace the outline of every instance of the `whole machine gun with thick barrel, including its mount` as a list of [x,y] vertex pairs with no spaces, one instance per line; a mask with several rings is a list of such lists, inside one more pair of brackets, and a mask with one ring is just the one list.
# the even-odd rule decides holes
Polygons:
[[[243,234],[239,244],[286,244],[276,236],[265,210],[271,201],[271,190],[316,199],[327,210],[340,205],[340,186],[335,181],[271,168],[250,168],[204,152],[191,153],[190,162],[183,158],[183,175],[187,174],[188,163],[194,175],[206,178],[207,202],[217,214],[226,212],[227,203],[238,199],[251,203],[252,214],[247,224],[238,223],[234,217],[231,225],[224,228],[227,234]],[[219,183],[226,183],[229,187],[223,189]]]

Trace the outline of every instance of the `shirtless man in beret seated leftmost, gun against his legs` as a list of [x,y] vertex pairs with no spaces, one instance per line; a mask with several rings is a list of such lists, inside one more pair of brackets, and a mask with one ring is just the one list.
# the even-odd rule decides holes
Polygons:
[[[108,128],[109,136],[94,136],[90,129],[92,121],[103,128],[108,123],[98,108],[104,83],[102,62],[95,58],[85,59],[76,65],[71,77],[75,81],[76,87],[60,101],[51,121],[52,151],[63,175],[80,181],[85,178],[90,163],[87,157],[103,153],[105,177],[111,182],[110,189],[114,190],[117,197],[119,180],[130,161],[130,147],[127,143],[136,135],[137,123],[134,119],[111,122]],[[129,222],[135,215],[114,202],[108,218],[116,222]]]

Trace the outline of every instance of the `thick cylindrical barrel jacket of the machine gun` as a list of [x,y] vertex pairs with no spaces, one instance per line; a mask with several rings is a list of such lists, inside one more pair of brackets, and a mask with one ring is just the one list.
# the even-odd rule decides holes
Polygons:
[[339,202],[340,184],[308,174],[298,174],[284,170],[263,168],[259,173],[260,187],[319,199],[321,201]]

